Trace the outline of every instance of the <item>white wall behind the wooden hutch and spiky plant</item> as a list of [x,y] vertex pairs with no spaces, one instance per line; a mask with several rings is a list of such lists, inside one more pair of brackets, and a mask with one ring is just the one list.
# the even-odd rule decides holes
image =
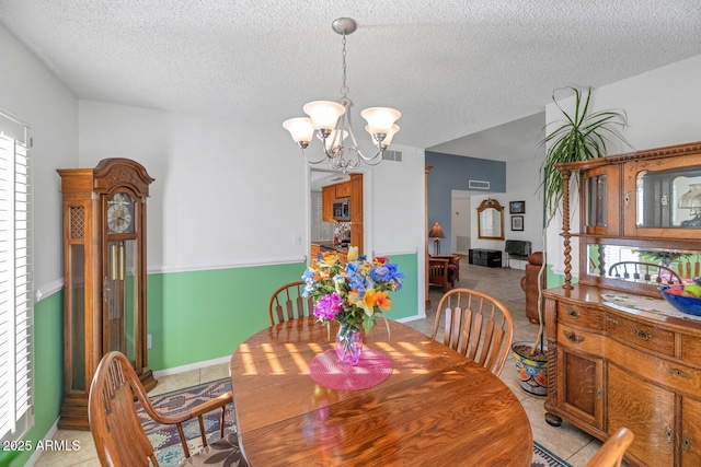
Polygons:
[[[590,112],[622,109],[628,114],[625,138],[631,148],[617,147],[609,154],[681,144],[701,140],[701,55],[619,81],[593,92]],[[574,98],[564,100],[572,112]],[[545,107],[548,122],[561,119],[555,104]],[[571,206],[576,206],[576,198]],[[573,218],[573,231],[578,229]],[[548,264],[562,273],[563,254],[560,237],[562,222],[555,220],[548,230]],[[573,252],[577,252],[573,243]],[[577,272],[573,255],[573,275]]]

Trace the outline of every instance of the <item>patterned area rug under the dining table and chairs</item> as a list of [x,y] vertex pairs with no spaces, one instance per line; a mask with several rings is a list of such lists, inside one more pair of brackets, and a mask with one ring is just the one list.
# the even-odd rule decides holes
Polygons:
[[[198,404],[204,402],[212,397],[229,390],[230,383],[228,378],[203,383],[196,386],[186,387],[174,390],[172,393],[162,394],[151,397],[151,404],[162,413],[173,416]],[[137,404],[137,406],[139,406]],[[151,444],[156,451],[156,456],[162,467],[176,466],[184,457],[183,447],[177,435],[175,427],[164,427],[151,421],[143,410],[139,407],[139,418],[146,434],[151,440]],[[235,434],[233,406],[230,405],[226,416],[226,434]],[[210,433],[208,440],[217,440],[219,437],[219,411],[214,411],[205,416],[205,429]],[[185,437],[191,452],[200,447],[199,428],[197,421],[193,420],[184,427]],[[551,453],[542,445],[533,442],[533,459],[531,467],[572,467],[570,464]]]

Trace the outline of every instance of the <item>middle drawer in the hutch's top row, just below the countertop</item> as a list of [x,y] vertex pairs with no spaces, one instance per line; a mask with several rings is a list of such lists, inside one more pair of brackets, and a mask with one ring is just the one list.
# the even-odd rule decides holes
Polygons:
[[609,336],[623,342],[658,352],[663,355],[675,355],[675,334],[656,328],[616,314],[606,318]]

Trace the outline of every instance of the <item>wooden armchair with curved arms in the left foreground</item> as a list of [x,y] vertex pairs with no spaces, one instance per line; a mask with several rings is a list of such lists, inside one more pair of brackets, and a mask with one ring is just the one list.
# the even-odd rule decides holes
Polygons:
[[[235,464],[239,459],[242,465],[245,463],[237,434],[230,433],[225,437],[225,413],[226,406],[232,401],[231,392],[177,416],[162,416],[153,408],[129,360],[123,353],[113,351],[100,361],[88,399],[90,431],[102,466],[159,466],[153,446],[139,421],[135,397],[154,422],[176,425],[185,453],[185,459],[180,465],[225,465],[225,462]],[[217,409],[221,410],[220,439],[208,443],[203,416]],[[203,448],[191,455],[183,423],[194,419],[199,423]]]

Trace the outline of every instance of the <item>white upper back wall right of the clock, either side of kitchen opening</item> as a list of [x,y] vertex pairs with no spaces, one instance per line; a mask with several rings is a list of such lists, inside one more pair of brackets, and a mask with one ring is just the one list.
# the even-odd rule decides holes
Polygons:
[[[80,166],[129,157],[156,178],[150,271],[301,260],[309,165],[278,127],[80,101]],[[423,245],[423,151],[397,149],[404,162],[365,168],[368,253]]]

